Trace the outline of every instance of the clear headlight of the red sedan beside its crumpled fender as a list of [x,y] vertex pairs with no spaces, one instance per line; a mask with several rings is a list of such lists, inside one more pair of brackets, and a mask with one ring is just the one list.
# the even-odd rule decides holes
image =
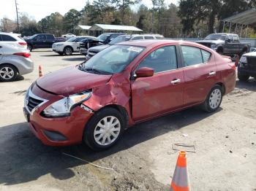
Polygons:
[[91,91],[86,91],[82,93],[76,93],[74,95],[70,95],[68,97],[62,98],[59,101],[50,104],[45,110],[43,114],[46,117],[65,117],[68,116],[71,109],[74,106],[86,101],[91,96]]

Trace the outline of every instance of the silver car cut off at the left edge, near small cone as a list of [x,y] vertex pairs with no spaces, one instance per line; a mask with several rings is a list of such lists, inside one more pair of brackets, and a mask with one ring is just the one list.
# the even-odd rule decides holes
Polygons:
[[29,74],[34,63],[25,48],[0,42],[0,81],[14,81],[19,75]]

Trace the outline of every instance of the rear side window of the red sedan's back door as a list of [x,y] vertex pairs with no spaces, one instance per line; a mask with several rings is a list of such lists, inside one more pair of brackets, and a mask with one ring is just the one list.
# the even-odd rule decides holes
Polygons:
[[206,50],[201,50],[197,47],[181,46],[184,65],[193,66],[199,63],[206,63],[211,57],[211,53]]

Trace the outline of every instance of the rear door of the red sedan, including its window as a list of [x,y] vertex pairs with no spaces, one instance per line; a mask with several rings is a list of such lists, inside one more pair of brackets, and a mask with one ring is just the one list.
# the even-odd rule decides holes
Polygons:
[[184,106],[200,104],[217,82],[214,55],[189,45],[180,48],[184,66]]

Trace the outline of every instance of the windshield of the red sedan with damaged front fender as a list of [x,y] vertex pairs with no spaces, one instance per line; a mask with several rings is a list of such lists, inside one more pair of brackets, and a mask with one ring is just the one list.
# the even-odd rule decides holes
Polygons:
[[113,45],[82,63],[79,69],[94,74],[116,74],[123,71],[143,50],[144,47]]

